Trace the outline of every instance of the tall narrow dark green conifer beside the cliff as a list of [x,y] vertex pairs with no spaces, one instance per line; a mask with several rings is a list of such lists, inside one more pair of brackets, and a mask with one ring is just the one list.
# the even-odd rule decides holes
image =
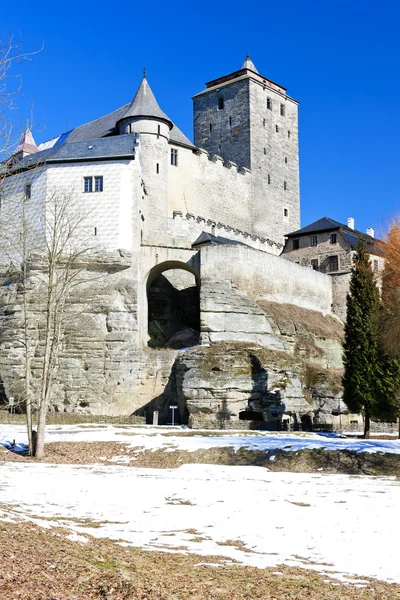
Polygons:
[[347,296],[344,341],[343,400],[349,409],[364,415],[364,437],[370,434],[371,417],[382,411],[384,377],[379,360],[379,291],[369,254],[361,240],[356,247]]

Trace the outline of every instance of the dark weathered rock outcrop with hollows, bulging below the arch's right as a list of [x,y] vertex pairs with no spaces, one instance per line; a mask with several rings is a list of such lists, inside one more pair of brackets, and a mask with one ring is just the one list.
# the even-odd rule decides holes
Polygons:
[[150,414],[157,410],[165,422],[168,407],[177,403],[181,422],[193,428],[339,429],[351,421],[359,426],[360,417],[341,401],[340,377],[340,371],[305,365],[287,353],[220,342],[179,354]]

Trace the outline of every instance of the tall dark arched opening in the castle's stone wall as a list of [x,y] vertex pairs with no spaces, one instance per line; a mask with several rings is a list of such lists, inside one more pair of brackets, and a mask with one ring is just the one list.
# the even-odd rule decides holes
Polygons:
[[199,343],[200,297],[198,273],[179,261],[151,269],[146,284],[147,345],[186,348]]

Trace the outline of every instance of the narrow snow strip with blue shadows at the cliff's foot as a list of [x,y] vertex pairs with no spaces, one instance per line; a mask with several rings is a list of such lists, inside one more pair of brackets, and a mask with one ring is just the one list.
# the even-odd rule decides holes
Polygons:
[[[177,427],[138,427],[138,426],[90,426],[90,425],[50,425],[47,428],[47,442],[124,442],[144,450],[174,449],[194,452],[208,448],[233,447],[238,450],[285,450],[297,452],[304,448],[325,448],[326,450],[353,450],[355,452],[391,452],[400,454],[400,440],[360,440],[316,433],[274,434],[259,432],[251,435],[247,432],[221,432],[207,435],[190,432]],[[176,433],[176,435],[174,435]],[[192,433],[192,432],[190,432]],[[168,435],[165,435],[168,434]],[[0,425],[0,444],[15,440],[26,442],[26,428],[22,425]]]

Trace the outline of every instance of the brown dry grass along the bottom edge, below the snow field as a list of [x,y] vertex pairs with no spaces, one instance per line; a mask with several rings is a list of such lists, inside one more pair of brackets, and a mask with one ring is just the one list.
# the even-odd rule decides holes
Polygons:
[[399,585],[374,580],[357,578],[364,587],[354,587],[303,569],[255,569],[104,539],[80,544],[65,535],[62,528],[0,521],[0,600],[400,599]]

